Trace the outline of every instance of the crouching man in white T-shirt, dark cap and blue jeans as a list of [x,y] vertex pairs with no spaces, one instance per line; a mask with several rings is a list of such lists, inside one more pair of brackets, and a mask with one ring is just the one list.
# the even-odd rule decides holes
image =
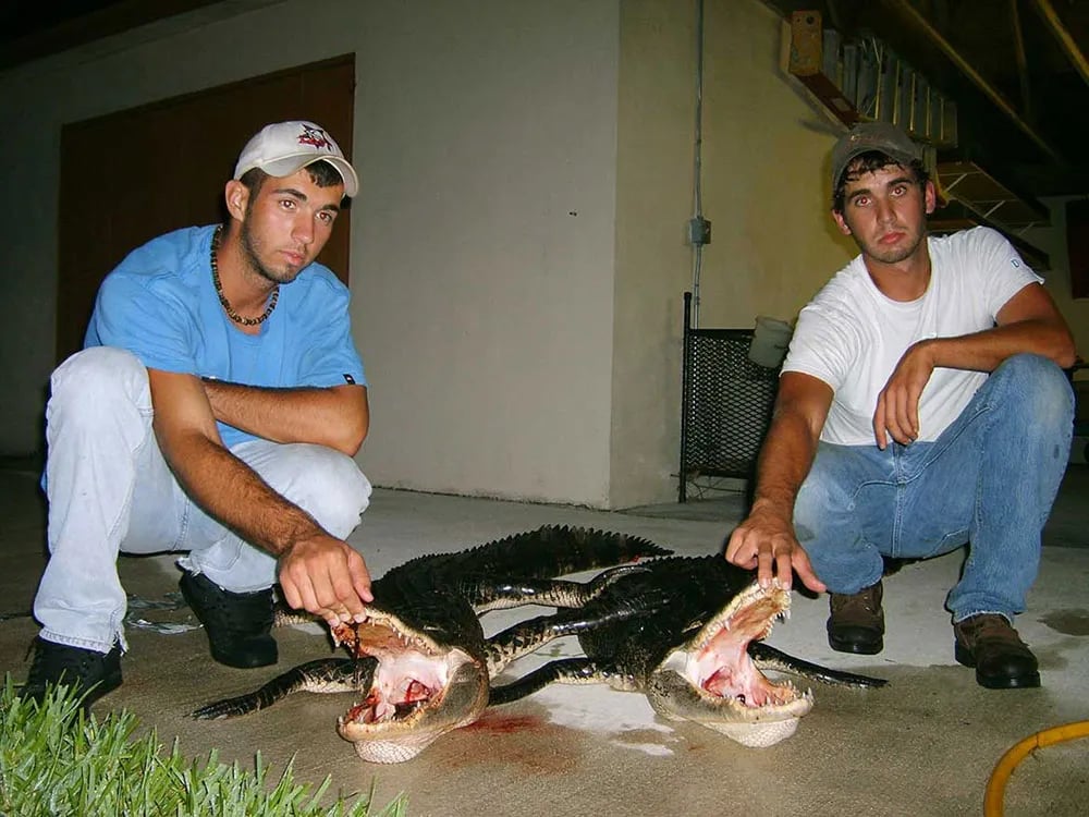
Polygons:
[[990,688],[1039,686],[1013,627],[1065,471],[1074,341],[998,232],[927,235],[935,192],[900,129],[832,151],[832,217],[861,251],[802,310],[726,559],[829,590],[829,643],[883,648],[884,557],[968,547],[946,606],[954,655]]

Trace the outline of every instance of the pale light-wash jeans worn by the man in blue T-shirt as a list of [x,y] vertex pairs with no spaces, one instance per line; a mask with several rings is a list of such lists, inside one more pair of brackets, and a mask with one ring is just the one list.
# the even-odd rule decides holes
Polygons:
[[[178,484],[151,430],[147,369],[106,346],[52,375],[46,407],[49,562],[34,599],[41,637],[99,653],[125,648],[118,554],[188,551],[179,564],[250,593],[277,561],[200,510]],[[231,449],[329,534],[346,537],[370,501],[355,461],[323,446],[249,440]]]

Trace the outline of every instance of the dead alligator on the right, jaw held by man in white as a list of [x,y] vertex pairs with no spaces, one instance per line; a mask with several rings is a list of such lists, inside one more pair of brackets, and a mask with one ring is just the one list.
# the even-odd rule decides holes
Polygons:
[[[669,720],[696,721],[746,746],[770,746],[794,733],[813,700],[793,683],[772,682],[758,667],[831,684],[885,683],[803,661],[760,643],[790,611],[791,594],[778,582],[761,588],[752,572],[721,557],[658,559],[643,566],[604,585],[582,609],[540,617],[498,634],[497,649],[510,650],[501,642],[517,639],[524,653],[577,622],[586,657],[552,661],[515,682],[493,685],[491,703],[516,700],[551,682],[608,683],[643,692]],[[668,603],[656,598],[645,614],[614,614],[617,608],[639,607],[645,594],[661,593]]]

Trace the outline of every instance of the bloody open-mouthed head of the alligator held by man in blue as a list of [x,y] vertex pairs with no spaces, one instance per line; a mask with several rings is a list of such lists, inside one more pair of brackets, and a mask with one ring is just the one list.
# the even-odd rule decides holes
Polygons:
[[466,651],[408,635],[395,617],[371,612],[362,624],[333,631],[356,658],[379,659],[369,692],[338,719],[337,731],[368,763],[403,763],[480,717],[488,672]]

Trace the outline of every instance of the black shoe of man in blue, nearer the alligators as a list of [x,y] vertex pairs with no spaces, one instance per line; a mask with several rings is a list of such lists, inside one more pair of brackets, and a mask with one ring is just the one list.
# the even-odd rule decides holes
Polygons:
[[255,593],[224,590],[207,576],[182,571],[178,586],[204,624],[211,657],[242,670],[277,662],[272,630],[272,588]]

